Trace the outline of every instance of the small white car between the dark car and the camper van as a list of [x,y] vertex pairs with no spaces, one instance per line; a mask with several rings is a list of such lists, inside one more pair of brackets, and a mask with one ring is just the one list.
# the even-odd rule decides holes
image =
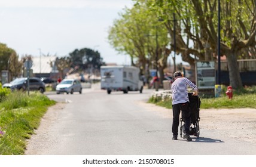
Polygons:
[[56,93],[60,94],[60,92],[66,92],[66,94],[73,94],[74,92],[82,93],[82,85],[81,82],[77,79],[63,79],[60,84],[56,86]]

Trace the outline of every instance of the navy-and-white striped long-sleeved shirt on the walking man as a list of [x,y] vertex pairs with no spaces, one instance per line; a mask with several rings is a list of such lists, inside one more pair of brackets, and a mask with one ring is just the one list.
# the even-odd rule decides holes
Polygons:
[[197,91],[197,86],[189,79],[185,77],[175,79],[172,83],[172,104],[186,103],[189,101],[187,86]]

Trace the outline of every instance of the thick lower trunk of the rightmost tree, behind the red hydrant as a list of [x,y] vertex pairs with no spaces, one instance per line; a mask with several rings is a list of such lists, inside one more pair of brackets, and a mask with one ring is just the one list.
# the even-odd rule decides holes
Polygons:
[[230,85],[234,88],[242,88],[242,79],[237,65],[236,53],[229,52],[227,55],[227,65]]

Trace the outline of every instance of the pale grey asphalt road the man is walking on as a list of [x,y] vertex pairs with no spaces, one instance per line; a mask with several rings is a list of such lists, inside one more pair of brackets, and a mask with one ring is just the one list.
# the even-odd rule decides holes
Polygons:
[[147,104],[154,90],[111,92],[93,85],[83,94],[48,93],[59,106],[48,110],[28,140],[26,154],[161,155],[256,154],[256,144],[200,129],[200,138],[172,140],[172,111]]

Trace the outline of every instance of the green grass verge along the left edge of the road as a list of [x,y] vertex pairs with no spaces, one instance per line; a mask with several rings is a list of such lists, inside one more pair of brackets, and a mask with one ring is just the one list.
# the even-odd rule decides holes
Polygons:
[[0,103],[0,154],[24,154],[26,140],[37,129],[48,106],[56,102],[46,95],[15,91]]

